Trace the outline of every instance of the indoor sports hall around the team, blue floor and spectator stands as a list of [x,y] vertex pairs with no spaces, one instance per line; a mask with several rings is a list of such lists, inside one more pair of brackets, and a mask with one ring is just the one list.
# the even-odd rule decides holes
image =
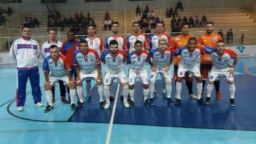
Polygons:
[[[0,144],[256,143],[256,1],[0,0],[0,3]],[[192,19],[189,20],[189,17]],[[214,22],[213,31],[221,35],[226,49],[236,52],[239,58],[234,68],[236,106],[230,106],[228,83],[223,76],[219,77],[223,99],[216,99],[213,88],[211,103],[207,106],[189,97],[185,80],[182,81],[180,106],[169,104],[162,93],[162,78],[157,76],[154,106],[143,104],[143,86],[140,79],[136,79],[134,107],[125,108],[121,100],[122,86],[115,79],[114,100],[109,109],[102,109],[96,81],[92,80],[92,99],[86,100],[84,107],[71,111],[70,104],[63,104],[60,84],[57,83],[54,109],[44,113],[47,99],[42,70],[44,60],[40,57],[38,68],[44,107],[34,105],[28,81],[26,104],[23,111],[18,111],[16,89],[19,74],[9,52],[13,42],[22,36],[22,26],[28,24],[26,26],[31,27],[31,38],[41,47],[49,38],[48,29],[56,29],[60,42],[67,40],[68,31],[73,31],[75,38],[81,40],[88,36],[86,29],[90,24],[95,26],[95,34],[106,42],[106,37],[113,35],[111,26],[106,22],[108,20],[119,22],[119,35],[124,37],[134,33],[132,23],[139,21],[140,31],[147,38],[157,33],[155,22],[160,20],[164,23],[164,33],[170,35],[172,40],[182,33],[182,22],[189,23],[189,33],[196,38],[205,33],[207,22]],[[196,63],[199,66],[200,60]],[[230,61],[230,65],[232,63],[234,61]],[[150,76],[150,65],[147,64],[146,68]],[[126,75],[129,69],[129,65],[125,64]],[[102,63],[103,78],[105,72]],[[175,102],[173,63],[170,77],[171,98]],[[207,83],[204,100],[206,87]],[[85,81],[83,91],[85,97]],[[196,94],[195,79],[193,92]],[[68,93],[66,98],[68,100]]]

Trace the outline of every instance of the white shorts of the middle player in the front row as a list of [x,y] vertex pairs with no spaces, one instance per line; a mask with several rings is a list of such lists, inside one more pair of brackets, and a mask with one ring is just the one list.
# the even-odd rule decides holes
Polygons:
[[135,84],[136,77],[139,77],[143,84],[148,84],[148,74],[146,69],[142,72],[132,72],[132,70],[129,70],[129,85]]

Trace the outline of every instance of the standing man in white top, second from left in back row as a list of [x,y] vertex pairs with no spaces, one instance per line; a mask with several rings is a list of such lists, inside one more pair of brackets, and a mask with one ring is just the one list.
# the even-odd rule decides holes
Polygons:
[[[57,45],[59,51],[62,46],[62,42],[57,40],[56,36],[56,30],[55,29],[49,29],[48,30],[48,40],[47,42],[44,42],[44,44],[41,47],[41,52],[44,58],[47,56],[50,56],[50,46],[51,45]],[[66,103],[66,90],[60,88],[60,95],[61,95],[61,102]],[[55,86],[52,86],[52,101],[55,102]]]

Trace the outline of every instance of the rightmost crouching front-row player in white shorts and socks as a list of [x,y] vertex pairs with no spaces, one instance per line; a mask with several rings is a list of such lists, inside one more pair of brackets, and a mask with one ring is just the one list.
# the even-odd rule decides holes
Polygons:
[[[212,70],[209,75],[209,82],[207,85],[207,98],[205,104],[210,104],[212,86],[215,79],[219,76],[225,76],[229,84],[230,106],[236,106],[234,100],[236,92],[236,87],[234,84],[234,68],[238,62],[236,52],[230,49],[225,49],[223,40],[216,42],[216,49],[205,46],[204,50],[206,53],[211,54],[212,58]],[[232,66],[229,64],[231,59],[234,59]]]

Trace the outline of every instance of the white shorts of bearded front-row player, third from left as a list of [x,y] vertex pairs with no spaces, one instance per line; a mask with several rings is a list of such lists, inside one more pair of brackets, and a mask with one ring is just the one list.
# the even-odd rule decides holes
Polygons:
[[124,71],[118,72],[116,74],[112,74],[110,72],[106,72],[104,76],[104,85],[110,85],[111,82],[117,78],[119,83],[128,83],[127,77],[125,76]]

